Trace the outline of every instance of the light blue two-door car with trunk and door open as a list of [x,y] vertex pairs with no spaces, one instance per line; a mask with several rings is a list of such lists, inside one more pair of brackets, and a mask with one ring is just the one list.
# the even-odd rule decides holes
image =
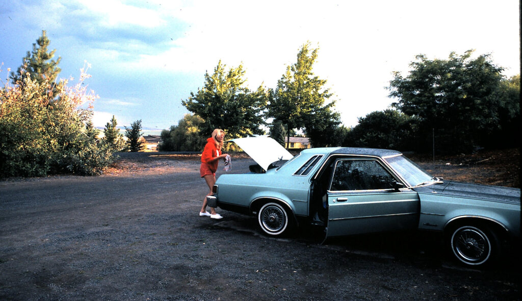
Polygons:
[[257,216],[264,234],[309,223],[326,237],[395,230],[445,235],[448,251],[480,266],[520,238],[520,189],[446,181],[388,149],[327,147],[291,155],[270,137],[231,140],[257,163],[213,187],[223,210]]

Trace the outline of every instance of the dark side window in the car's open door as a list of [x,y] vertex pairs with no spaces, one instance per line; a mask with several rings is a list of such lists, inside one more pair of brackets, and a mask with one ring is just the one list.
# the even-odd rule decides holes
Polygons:
[[336,163],[329,190],[393,189],[396,181],[377,160],[342,159]]

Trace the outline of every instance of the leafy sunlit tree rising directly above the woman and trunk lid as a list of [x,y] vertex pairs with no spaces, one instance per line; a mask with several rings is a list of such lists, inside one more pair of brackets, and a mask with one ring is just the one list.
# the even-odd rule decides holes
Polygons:
[[205,86],[183,100],[188,111],[205,120],[201,135],[210,136],[216,128],[223,129],[232,137],[262,134],[264,109],[268,99],[267,91],[259,86],[251,91],[245,86],[243,66],[225,70],[226,65],[218,65],[214,73],[205,74]]

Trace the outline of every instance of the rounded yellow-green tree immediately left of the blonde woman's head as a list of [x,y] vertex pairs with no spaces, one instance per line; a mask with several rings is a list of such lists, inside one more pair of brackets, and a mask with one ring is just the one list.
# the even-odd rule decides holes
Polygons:
[[158,146],[162,152],[193,152],[203,151],[207,136],[201,135],[200,126],[205,121],[198,115],[185,114],[177,125],[170,130],[161,131],[161,144]]

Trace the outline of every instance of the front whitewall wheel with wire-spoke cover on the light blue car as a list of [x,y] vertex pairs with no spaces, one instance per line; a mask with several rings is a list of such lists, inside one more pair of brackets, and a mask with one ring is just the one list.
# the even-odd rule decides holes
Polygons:
[[449,240],[454,256],[468,265],[483,265],[494,259],[498,251],[495,233],[485,226],[455,227]]

